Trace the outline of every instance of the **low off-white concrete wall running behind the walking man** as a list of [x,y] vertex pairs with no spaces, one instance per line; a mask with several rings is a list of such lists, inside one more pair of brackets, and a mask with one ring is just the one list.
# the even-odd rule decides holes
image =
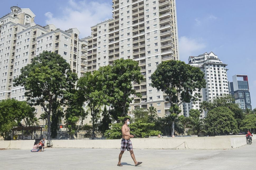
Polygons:
[[[255,138],[256,139],[256,138]],[[254,140],[254,137],[253,137]],[[246,145],[244,135],[131,139],[134,149],[232,149]],[[0,141],[0,148],[32,149],[34,140]],[[55,148],[120,148],[121,139],[52,140]],[[47,141],[45,142],[47,143]]]

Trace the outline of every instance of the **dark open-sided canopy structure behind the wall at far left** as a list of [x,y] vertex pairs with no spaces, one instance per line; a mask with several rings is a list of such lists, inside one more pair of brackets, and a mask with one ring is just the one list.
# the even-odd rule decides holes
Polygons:
[[40,140],[42,127],[20,126],[12,129],[12,140]]

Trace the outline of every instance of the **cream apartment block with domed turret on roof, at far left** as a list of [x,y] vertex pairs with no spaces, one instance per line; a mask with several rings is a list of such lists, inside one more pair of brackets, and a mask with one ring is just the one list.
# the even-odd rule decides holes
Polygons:
[[[78,29],[63,31],[53,24],[43,27],[34,23],[34,17],[28,8],[11,7],[11,12],[0,18],[0,100],[26,100],[24,87],[14,87],[13,80],[43,50],[63,56],[78,76],[86,70],[87,41],[79,39]],[[36,112],[38,118],[44,110],[37,106]]]

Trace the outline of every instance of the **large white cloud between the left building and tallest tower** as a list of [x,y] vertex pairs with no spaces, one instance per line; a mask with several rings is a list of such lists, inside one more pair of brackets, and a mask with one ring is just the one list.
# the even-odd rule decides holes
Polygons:
[[54,24],[63,30],[78,28],[80,38],[91,35],[93,25],[112,18],[111,3],[101,3],[97,0],[69,0],[67,6],[62,8],[59,14],[46,12],[46,24]]

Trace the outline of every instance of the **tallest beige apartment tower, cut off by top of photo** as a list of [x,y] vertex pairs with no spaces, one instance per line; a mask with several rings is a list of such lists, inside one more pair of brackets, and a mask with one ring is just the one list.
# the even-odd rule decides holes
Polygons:
[[[166,95],[151,86],[151,74],[166,60],[179,60],[175,0],[112,0],[112,19],[91,27],[88,41],[87,71],[113,64],[116,59],[139,63],[144,80],[135,84],[137,96],[130,104],[136,108],[154,106],[159,117],[169,114]],[[129,111],[129,113],[131,113]]]

